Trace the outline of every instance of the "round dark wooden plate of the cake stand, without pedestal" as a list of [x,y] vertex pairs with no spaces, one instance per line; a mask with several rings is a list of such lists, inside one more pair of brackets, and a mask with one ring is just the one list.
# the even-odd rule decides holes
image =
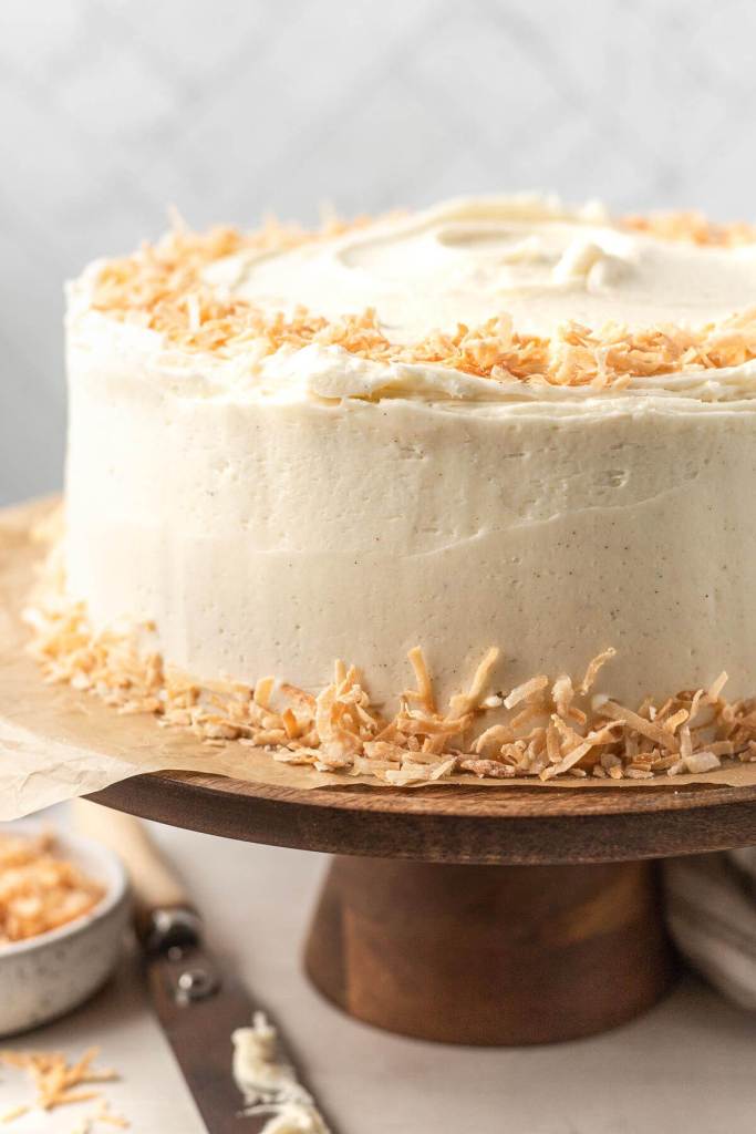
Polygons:
[[625,862],[756,843],[756,786],[295,790],[160,772],[92,798],[252,843],[425,862]]

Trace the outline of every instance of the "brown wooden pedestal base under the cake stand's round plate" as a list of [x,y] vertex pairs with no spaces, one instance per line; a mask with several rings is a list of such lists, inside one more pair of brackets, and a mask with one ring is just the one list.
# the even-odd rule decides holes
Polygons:
[[477,1044],[604,1031],[649,1008],[673,972],[647,862],[337,857],[305,964],[320,991],[358,1019]]

